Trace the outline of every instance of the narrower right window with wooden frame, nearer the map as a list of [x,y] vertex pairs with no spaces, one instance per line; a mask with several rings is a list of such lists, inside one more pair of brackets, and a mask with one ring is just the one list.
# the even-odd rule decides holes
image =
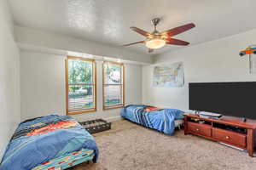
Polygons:
[[125,103],[123,64],[103,63],[103,109],[123,107]]

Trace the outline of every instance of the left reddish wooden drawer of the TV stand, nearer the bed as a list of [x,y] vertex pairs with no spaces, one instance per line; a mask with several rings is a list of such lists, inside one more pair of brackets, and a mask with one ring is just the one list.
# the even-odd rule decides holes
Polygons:
[[201,134],[203,136],[211,137],[211,126],[206,124],[199,124],[195,122],[188,122],[188,130],[190,133]]

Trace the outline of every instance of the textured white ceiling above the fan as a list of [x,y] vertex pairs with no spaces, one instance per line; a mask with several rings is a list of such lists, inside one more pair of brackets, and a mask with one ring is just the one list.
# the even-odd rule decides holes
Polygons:
[[[15,23],[44,31],[119,46],[143,40],[130,26],[153,31],[150,20],[161,17],[159,31],[194,22],[176,36],[193,44],[256,28],[255,0],[9,0]],[[124,47],[125,48],[125,47]],[[143,44],[126,47],[148,53]],[[160,54],[180,47],[166,45]]]

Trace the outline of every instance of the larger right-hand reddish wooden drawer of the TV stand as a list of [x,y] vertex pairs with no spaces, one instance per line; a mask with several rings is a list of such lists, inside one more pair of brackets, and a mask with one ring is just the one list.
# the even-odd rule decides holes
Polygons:
[[212,128],[212,138],[224,143],[236,144],[243,148],[247,145],[247,136],[245,134],[233,133],[219,128]]

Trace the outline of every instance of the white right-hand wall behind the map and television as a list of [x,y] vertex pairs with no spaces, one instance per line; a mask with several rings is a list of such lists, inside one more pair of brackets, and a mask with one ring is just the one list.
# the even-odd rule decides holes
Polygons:
[[248,55],[240,57],[239,51],[256,44],[256,30],[232,37],[205,42],[199,45],[160,54],[155,65],[183,61],[185,85],[183,88],[154,88],[154,65],[143,66],[143,103],[189,110],[189,82],[256,81],[249,74]]

